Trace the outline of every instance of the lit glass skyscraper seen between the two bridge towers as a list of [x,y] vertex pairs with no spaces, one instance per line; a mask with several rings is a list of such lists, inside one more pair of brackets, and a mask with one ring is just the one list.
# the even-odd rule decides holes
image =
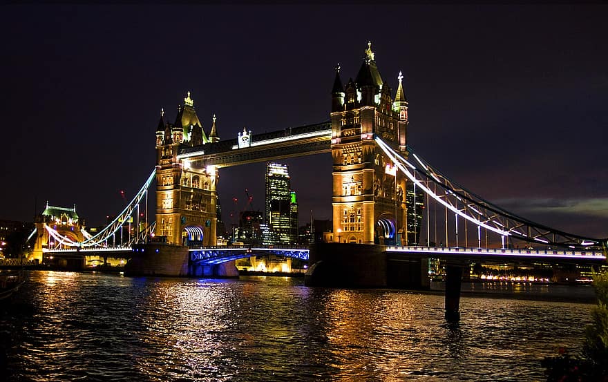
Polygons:
[[[292,190],[287,164],[269,162],[266,164],[266,224],[272,234],[265,244],[292,244],[297,239],[292,228]],[[294,193],[295,200],[295,193]],[[295,207],[297,222],[297,203]]]

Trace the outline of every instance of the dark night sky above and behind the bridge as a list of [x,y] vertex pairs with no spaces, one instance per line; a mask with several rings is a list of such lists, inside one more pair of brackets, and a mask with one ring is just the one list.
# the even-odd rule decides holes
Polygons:
[[[606,6],[1,6],[0,219],[48,200],[89,226],[155,165],[160,109],[191,91],[220,138],[329,119],[334,67],[368,41],[410,101],[408,142],[435,168],[525,218],[608,236]],[[301,222],[331,218],[331,155],[285,160]],[[224,220],[264,164],[222,169]],[[238,198],[238,204],[231,201]]]

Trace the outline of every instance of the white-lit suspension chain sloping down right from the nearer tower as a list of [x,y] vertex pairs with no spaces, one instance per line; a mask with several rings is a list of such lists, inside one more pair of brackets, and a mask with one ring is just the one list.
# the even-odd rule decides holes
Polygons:
[[[409,146],[408,153],[414,157],[415,161],[406,160],[379,137],[374,139],[382,151],[390,157],[397,168],[406,174],[408,179],[414,182],[416,187],[437,200],[439,204],[444,205],[446,211],[449,209],[456,216],[473,222],[477,227],[484,227],[486,230],[500,235],[503,247],[504,238],[571,249],[605,247],[606,245],[605,240],[565,233],[506,211],[448,179],[428,162],[422,160]],[[436,184],[435,191],[428,186],[430,183]],[[481,241],[480,236],[481,233],[479,233],[479,242]]]

